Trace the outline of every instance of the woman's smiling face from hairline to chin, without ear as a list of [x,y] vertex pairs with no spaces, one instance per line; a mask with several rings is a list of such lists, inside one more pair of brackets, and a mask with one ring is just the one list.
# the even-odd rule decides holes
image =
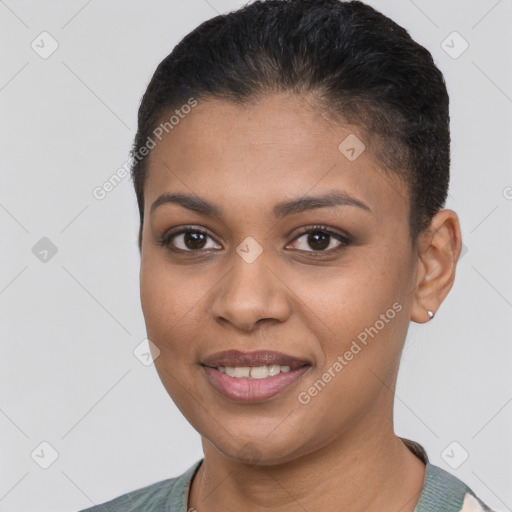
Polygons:
[[[390,426],[417,256],[407,192],[361,142],[276,95],[200,101],[152,150],[147,334],[169,395],[228,457],[276,464]],[[163,194],[179,196],[152,208]]]

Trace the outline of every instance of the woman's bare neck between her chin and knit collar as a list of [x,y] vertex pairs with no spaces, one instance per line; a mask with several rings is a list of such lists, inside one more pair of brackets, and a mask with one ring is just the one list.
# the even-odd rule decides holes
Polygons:
[[394,434],[391,422],[353,429],[291,462],[246,465],[203,438],[204,461],[190,490],[189,507],[308,512],[343,509],[413,512],[425,465]]

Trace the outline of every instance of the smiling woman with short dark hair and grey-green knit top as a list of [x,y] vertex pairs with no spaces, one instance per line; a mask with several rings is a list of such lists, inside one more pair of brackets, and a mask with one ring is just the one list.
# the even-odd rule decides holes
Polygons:
[[490,510],[393,429],[461,252],[430,53],[361,2],[217,16],[158,66],[132,175],[155,366],[204,458],[89,511]]

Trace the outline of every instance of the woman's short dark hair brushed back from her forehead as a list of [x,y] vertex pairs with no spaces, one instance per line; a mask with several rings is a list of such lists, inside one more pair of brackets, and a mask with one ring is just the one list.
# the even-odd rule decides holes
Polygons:
[[131,152],[139,250],[148,171],[140,150],[165,116],[191,98],[244,104],[280,92],[311,95],[361,130],[379,165],[407,186],[415,246],[450,180],[449,99],[432,55],[360,1],[259,0],[186,35],[144,93]]

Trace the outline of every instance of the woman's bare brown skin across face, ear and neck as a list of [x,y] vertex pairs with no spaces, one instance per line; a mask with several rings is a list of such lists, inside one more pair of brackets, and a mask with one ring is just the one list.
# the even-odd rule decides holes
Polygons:
[[[369,150],[349,161],[339,144],[364,137],[312,105],[288,94],[244,106],[201,100],[151,153],[141,302],[162,383],[202,437],[189,495],[199,512],[325,512],[340,503],[412,512],[423,485],[424,464],[394,434],[393,395],[410,321],[428,321],[427,309],[436,312],[452,287],[458,218],[440,211],[411,249],[405,187]],[[371,212],[345,205],[274,217],[279,202],[333,190]],[[222,218],[176,204],[151,214],[164,192],[213,202]],[[333,252],[341,242],[331,237],[315,250],[299,230],[317,224],[353,243]],[[158,243],[187,225],[208,233],[203,245],[185,245],[183,235]],[[252,263],[236,252],[246,237],[263,248]],[[298,394],[394,303],[394,318],[301,404]],[[241,404],[220,395],[200,365],[227,349],[276,350],[312,366],[271,399]]]

